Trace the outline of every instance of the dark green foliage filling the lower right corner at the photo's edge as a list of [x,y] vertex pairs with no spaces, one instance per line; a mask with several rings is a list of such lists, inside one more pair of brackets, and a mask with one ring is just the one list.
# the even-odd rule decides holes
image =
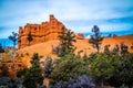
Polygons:
[[[127,86],[129,88],[133,87],[133,54],[125,54],[122,56],[115,57],[114,59],[114,74],[110,78],[110,84],[120,87],[122,85]],[[115,82],[113,81],[115,80]]]

